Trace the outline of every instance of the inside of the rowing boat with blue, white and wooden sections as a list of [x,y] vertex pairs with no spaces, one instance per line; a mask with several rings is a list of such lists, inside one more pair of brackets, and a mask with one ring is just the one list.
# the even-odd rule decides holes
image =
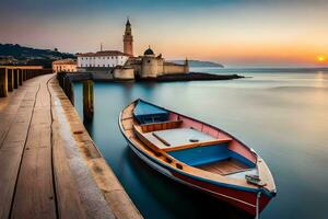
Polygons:
[[255,155],[220,129],[140,100],[133,118],[133,131],[154,151],[215,174],[257,174]]

